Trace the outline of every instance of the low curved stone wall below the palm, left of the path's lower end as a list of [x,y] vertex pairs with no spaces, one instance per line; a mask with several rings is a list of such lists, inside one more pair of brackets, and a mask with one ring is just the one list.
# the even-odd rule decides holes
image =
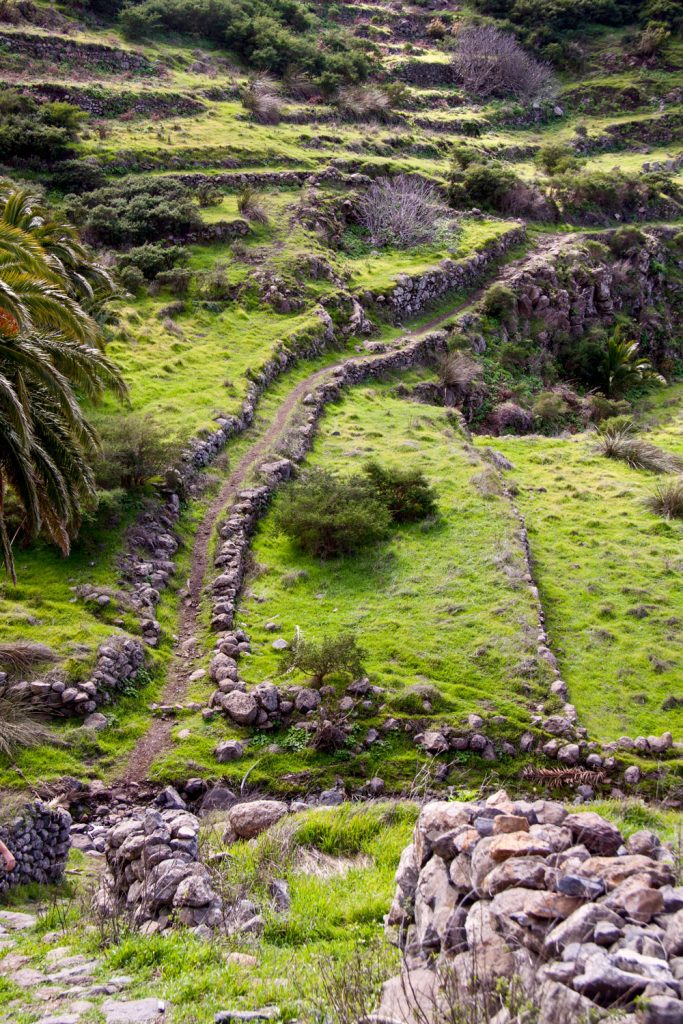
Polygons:
[[55,678],[11,683],[0,678],[0,693],[7,691],[26,698],[48,715],[90,715],[129,686],[144,665],[144,648],[134,637],[115,635],[97,650],[90,678],[65,682]]

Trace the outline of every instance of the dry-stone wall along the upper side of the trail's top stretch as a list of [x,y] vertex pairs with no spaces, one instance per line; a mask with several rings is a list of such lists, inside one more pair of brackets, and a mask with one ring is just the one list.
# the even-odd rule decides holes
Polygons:
[[360,298],[368,308],[382,311],[395,324],[416,316],[423,309],[442,300],[450,292],[470,288],[492,263],[526,238],[523,224],[513,227],[483,246],[467,259],[444,259],[424,273],[396,275],[395,284],[382,291],[367,291]]

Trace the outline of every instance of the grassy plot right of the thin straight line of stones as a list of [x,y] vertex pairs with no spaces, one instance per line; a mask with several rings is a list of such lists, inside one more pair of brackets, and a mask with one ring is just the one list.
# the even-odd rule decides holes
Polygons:
[[[674,423],[665,434],[680,433]],[[594,454],[590,435],[494,443],[515,467],[508,475],[519,487],[551,644],[583,724],[602,740],[680,735],[683,710],[663,705],[683,696],[682,532],[643,507],[656,478]]]

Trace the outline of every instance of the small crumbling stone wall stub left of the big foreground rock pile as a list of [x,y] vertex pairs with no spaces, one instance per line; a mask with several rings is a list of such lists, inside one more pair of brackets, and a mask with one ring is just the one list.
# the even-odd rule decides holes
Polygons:
[[176,808],[150,808],[115,825],[104,845],[99,911],[129,914],[146,934],[176,921],[200,934],[221,927],[221,900],[198,859],[199,829],[194,814]]

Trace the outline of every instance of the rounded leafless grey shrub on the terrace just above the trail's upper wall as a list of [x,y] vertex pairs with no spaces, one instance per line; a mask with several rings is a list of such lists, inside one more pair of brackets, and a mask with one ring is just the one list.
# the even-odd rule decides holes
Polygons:
[[451,216],[433,185],[407,174],[378,178],[358,205],[360,223],[377,246],[409,248],[433,242],[440,223]]

